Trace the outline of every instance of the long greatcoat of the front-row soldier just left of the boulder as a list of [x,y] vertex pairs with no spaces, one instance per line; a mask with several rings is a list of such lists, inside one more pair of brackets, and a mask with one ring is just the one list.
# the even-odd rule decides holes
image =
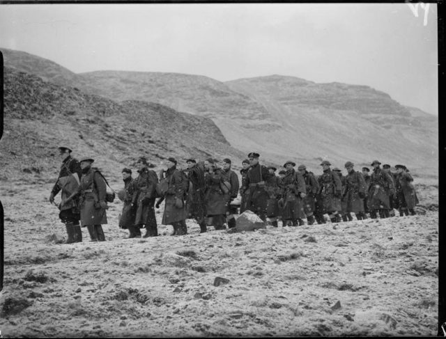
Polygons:
[[223,170],[221,168],[215,168],[212,173],[206,173],[205,180],[206,193],[204,197],[206,201],[206,215],[226,215],[231,196],[230,192],[224,194],[220,188],[220,183],[225,180]]

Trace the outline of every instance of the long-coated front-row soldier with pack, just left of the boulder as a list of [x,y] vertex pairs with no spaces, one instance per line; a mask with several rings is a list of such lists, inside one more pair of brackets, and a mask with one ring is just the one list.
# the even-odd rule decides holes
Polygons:
[[[204,161],[207,170],[206,180],[206,214],[209,224],[213,225],[215,230],[224,230],[224,221],[228,210],[228,201],[230,198],[231,184],[224,182],[224,174],[222,168],[215,165],[212,158]],[[222,184],[225,184],[228,193],[222,190]]]

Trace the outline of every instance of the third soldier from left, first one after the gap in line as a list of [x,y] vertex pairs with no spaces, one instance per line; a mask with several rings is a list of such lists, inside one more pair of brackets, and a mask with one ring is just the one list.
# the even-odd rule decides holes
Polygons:
[[130,235],[128,239],[134,237],[140,238],[141,231],[139,230],[139,226],[137,227],[134,225],[136,206],[132,204],[136,182],[132,178],[132,170],[130,168],[123,168],[121,173],[123,175],[124,189],[123,191],[118,192],[118,197],[123,200],[124,206],[123,211],[121,212],[121,218],[119,219],[119,227],[124,230],[129,230]]

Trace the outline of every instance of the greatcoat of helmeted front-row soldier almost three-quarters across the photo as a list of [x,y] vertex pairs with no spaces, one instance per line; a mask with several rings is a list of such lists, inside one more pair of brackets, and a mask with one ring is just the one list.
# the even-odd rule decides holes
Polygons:
[[330,168],[323,171],[323,173],[318,178],[319,182],[319,197],[321,199],[321,207],[323,214],[330,212],[341,212],[341,198],[335,196],[342,192],[342,184],[339,179],[339,175],[332,172]]

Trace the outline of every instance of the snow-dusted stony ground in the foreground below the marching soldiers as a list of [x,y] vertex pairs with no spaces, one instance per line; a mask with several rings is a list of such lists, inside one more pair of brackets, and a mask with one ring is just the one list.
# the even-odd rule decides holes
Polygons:
[[58,244],[66,232],[50,189],[1,183],[3,336],[436,334],[438,212],[429,208],[234,234],[200,235],[188,220],[183,237],[160,225],[160,237],[123,239],[118,202],[106,242],[82,228],[84,242]]

